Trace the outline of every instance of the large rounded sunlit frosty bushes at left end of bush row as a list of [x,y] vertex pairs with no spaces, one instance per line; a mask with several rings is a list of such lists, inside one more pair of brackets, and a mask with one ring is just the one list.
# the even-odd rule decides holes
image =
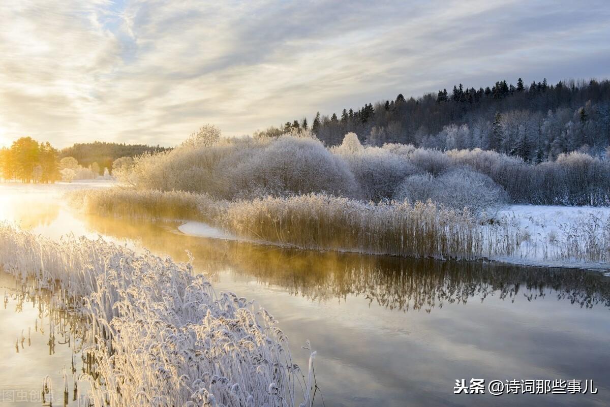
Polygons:
[[134,160],[123,177],[140,189],[206,193],[221,199],[268,194],[357,194],[343,160],[306,135],[239,138],[213,146],[185,144]]

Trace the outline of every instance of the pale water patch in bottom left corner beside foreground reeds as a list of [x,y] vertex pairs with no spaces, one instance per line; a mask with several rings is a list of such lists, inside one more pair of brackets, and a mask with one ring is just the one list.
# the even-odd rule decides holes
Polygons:
[[[0,288],[0,405],[86,405],[81,390],[88,384],[79,378],[88,367],[81,357],[81,317],[66,312],[60,295],[2,271]],[[47,391],[42,392],[47,375]]]

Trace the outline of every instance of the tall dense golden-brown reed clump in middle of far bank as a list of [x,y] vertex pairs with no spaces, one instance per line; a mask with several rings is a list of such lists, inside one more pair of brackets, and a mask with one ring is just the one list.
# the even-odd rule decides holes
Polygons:
[[220,225],[239,236],[297,246],[416,258],[512,253],[468,211],[433,202],[365,203],[322,194],[232,202]]

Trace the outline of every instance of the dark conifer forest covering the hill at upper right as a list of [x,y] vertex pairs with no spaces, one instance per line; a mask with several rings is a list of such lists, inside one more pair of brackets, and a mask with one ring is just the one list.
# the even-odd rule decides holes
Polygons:
[[610,144],[610,82],[546,79],[525,85],[501,80],[492,87],[455,85],[415,99],[343,109],[340,115],[306,118],[270,127],[256,135],[278,136],[312,130],[328,146],[354,132],[362,143],[413,144],[440,150],[495,150],[525,161],[555,160],[572,151],[602,157]]

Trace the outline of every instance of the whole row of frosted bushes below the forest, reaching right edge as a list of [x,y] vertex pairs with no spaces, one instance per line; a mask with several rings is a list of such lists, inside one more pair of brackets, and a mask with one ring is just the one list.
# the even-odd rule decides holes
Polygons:
[[[232,139],[221,138],[215,128],[204,130],[171,151],[134,158],[131,168],[117,172],[118,178],[140,189],[188,191],[213,199],[329,193],[379,202],[401,196],[396,188],[409,175],[440,177],[467,166],[504,188],[514,203],[610,205],[610,161],[582,153],[534,164],[480,149],[363,146],[355,133],[327,149],[309,130]],[[465,129],[446,130],[457,137],[456,146],[468,144],[462,143]],[[411,179],[417,180],[422,181]],[[488,184],[472,182],[471,190]]]

